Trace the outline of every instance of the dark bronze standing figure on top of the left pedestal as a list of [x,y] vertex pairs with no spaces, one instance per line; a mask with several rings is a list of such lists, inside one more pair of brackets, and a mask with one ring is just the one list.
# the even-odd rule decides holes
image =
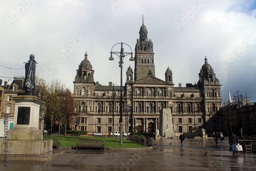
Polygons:
[[29,61],[25,64],[25,81],[23,90],[25,92],[35,92],[35,56],[31,54]]

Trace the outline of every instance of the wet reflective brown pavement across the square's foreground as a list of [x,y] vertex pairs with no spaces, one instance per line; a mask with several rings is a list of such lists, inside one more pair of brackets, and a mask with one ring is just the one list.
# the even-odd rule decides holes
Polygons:
[[216,146],[213,138],[186,139],[184,149],[179,139],[155,142],[157,149],[65,150],[65,154],[50,161],[9,160],[8,167],[1,159],[0,170],[256,170],[256,154],[233,155],[227,141]]

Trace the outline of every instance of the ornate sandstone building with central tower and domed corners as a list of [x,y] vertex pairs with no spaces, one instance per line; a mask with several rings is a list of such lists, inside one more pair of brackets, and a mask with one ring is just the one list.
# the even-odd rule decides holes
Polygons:
[[72,129],[110,133],[114,125],[114,131],[119,131],[122,110],[123,131],[154,133],[159,129],[161,110],[170,109],[174,132],[223,131],[221,84],[206,56],[202,57],[197,84],[175,86],[169,67],[163,73],[165,80],[155,77],[154,46],[147,33],[142,22],[135,45],[135,68],[127,68],[122,92],[112,82],[106,86],[95,82],[90,58],[84,55],[74,81]]

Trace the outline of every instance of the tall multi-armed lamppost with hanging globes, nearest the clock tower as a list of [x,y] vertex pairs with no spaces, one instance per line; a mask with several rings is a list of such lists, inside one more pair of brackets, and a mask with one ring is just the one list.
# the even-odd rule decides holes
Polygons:
[[[114,52],[114,51],[112,51],[113,50],[113,48],[116,46],[116,45],[119,45],[119,44],[121,44],[121,50],[120,50],[120,52]],[[130,48],[130,50],[131,50],[131,52],[123,52],[123,44],[124,45],[126,45],[126,46],[128,46],[129,48]],[[111,56],[109,57],[109,60],[114,60],[114,57],[112,57],[112,54],[115,54],[115,55],[117,55],[118,57],[119,57],[119,67],[120,67],[120,69],[121,69],[121,78],[120,78],[120,93],[121,93],[121,95],[120,95],[120,145],[122,145],[123,144],[123,96],[122,96],[122,84],[123,84],[123,58],[125,57],[125,56],[127,56],[127,55],[131,55],[131,58],[129,59],[130,61],[134,61],[134,58],[133,58],[133,51],[132,51],[132,48],[129,46],[129,45],[127,45],[127,44],[125,44],[125,43],[123,43],[123,42],[121,42],[121,43],[117,43],[117,44],[115,44],[112,48],[111,48],[111,52],[110,52],[110,54],[111,54]],[[119,54],[119,55],[118,55]]]

